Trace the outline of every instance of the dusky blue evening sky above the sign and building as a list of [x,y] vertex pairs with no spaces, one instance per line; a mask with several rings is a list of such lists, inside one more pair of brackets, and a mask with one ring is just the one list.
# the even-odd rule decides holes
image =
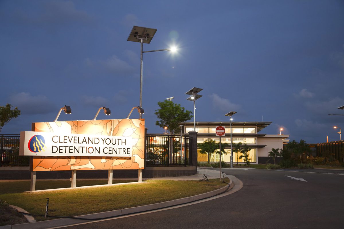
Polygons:
[[[1,134],[59,120],[92,119],[99,107],[125,118],[139,105],[140,44],[133,25],[156,28],[143,50],[148,133],[158,101],[193,110],[184,93],[203,88],[196,121],[272,122],[262,130],[309,143],[344,130],[343,1],[0,1],[0,105],[22,115]],[[106,119],[99,114],[98,119]],[[138,118],[135,112],[131,118]],[[192,121],[192,120],[191,120]]]

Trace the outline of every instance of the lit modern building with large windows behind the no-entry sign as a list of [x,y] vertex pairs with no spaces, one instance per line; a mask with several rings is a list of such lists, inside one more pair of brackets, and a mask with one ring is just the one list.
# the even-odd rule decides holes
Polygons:
[[[289,135],[272,135],[259,133],[262,129],[270,125],[271,122],[232,122],[232,142],[247,144],[251,150],[248,152],[251,164],[265,164],[273,162],[268,157],[269,151],[272,148],[283,149],[283,144],[289,142]],[[184,122],[182,134],[188,135],[189,131],[194,130],[193,122]],[[228,143],[229,148],[225,148],[227,154],[223,155],[223,161],[230,162],[230,122],[197,122],[197,144],[202,143],[207,139],[219,142],[219,137],[215,136],[216,126],[225,126],[226,136],[221,137],[222,143]],[[233,163],[244,164],[243,159],[237,158],[235,152],[233,153]],[[201,154],[200,149],[197,153],[197,161],[208,161],[207,154]],[[210,161],[219,161],[219,154],[210,155]]]

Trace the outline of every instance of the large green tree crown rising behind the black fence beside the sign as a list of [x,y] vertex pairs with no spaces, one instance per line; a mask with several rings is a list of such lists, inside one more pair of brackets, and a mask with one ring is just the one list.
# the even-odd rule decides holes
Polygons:
[[171,134],[180,133],[178,123],[185,122],[193,117],[191,111],[184,111],[184,107],[172,101],[165,100],[163,102],[158,102],[158,105],[160,109],[155,110],[155,115],[157,115],[160,121],[155,122],[155,125],[161,128],[167,126]]

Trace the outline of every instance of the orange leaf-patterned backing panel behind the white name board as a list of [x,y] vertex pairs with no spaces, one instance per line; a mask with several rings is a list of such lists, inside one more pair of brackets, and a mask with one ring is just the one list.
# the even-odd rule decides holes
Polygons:
[[31,171],[144,169],[144,119],[33,123],[32,131],[132,139],[131,157],[33,156]]

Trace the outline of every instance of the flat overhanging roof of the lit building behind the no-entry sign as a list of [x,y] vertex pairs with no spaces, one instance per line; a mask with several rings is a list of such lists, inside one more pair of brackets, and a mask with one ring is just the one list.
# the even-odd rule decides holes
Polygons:
[[[257,126],[257,132],[264,129],[272,122],[232,122],[232,126]],[[179,125],[193,126],[193,122],[179,123]],[[196,126],[229,126],[230,122],[196,122]]]

